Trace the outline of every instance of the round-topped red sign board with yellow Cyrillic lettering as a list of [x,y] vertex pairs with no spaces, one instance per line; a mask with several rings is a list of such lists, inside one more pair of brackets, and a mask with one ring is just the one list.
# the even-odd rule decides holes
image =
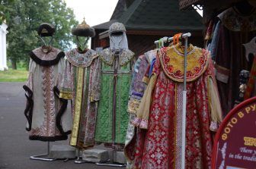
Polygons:
[[212,167],[256,169],[256,97],[237,105],[216,133]]

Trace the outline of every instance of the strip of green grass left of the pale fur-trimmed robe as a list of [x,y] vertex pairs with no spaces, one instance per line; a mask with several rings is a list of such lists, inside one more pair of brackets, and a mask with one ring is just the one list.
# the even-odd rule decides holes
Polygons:
[[0,70],[0,82],[25,82],[27,80],[27,70],[19,69]]

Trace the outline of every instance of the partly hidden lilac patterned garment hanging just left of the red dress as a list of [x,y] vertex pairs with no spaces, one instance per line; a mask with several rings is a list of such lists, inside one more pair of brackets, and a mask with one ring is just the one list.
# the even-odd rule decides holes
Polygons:
[[139,108],[139,102],[142,99],[143,93],[146,89],[146,84],[149,83],[149,68],[150,63],[156,56],[156,50],[146,52],[144,55],[139,56],[133,69],[133,79],[130,86],[129,102],[127,111],[130,113],[130,120],[126,131],[126,141],[124,147],[124,154],[128,160],[127,167],[133,167],[134,147],[136,142],[136,130],[132,121],[136,117],[136,111]]

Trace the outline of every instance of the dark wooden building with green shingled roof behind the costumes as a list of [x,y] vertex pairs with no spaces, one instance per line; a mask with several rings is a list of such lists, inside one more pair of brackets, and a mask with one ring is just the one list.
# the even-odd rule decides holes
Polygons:
[[108,28],[114,22],[126,27],[129,49],[136,56],[155,48],[154,41],[175,33],[192,33],[189,39],[203,47],[202,17],[194,9],[180,11],[178,0],[119,0],[110,21],[94,26],[91,49],[109,46]]

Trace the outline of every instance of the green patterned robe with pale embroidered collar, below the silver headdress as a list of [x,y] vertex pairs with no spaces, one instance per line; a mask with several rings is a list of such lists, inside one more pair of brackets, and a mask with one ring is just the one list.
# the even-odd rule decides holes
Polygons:
[[125,142],[129,121],[126,110],[132,79],[133,55],[129,49],[120,52],[104,49],[101,52],[101,97],[96,124],[96,142],[119,144]]

